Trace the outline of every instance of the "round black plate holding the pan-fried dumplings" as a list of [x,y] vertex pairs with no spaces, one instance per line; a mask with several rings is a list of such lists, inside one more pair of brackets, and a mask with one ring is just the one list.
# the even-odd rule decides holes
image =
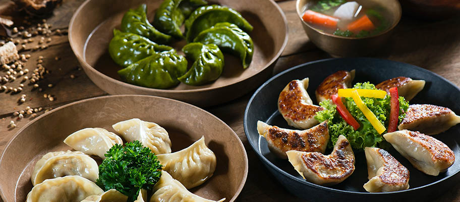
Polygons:
[[[460,147],[457,142],[460,140],[460,125],[434,136],[447,144],[457,157],[447,172],[441,173],[439,176],[423,174],[399,155],[397,151],[394,149],[389,150],[389,153],[410,171],[410,188],[402,191],[367,192],[363,188],[363,185],[368,181],[367,163],[362,151],[355,150],[355,172],[348,179],[330,187],[307,182],[294,170],[289,161],[278,159],[270,153],[265,138],[259,137],[257,121],[261,120],[269,125],[294,129],[287,125],[277,108],[278,95],[284,86],[294,79],[309,77],[310,85],[307,91],[313,99],[313,103],[317,103],[315,90],[324,78],[339,70],[350,71],[353,69],[356,69],[353,84],[365,81],[377,84],[398,76],[423,79],[426,81],[425,88],[411,100],[410,104],[432,104],[448,107],[456,114],[460,112],[460,89],[441,76],[414,65],[381,59],[349,58],[320,60],[293,67],[272,77],[257,89],[249,100],[244,117],[246,136],[252,148],[276,179],[295,195],[315,201],[332,199],[426,200],[439,195],[451,187],[452,183],[458,181],[460,175],[456,174],[460,171],[460,160],[458,160],[460,158]],[[326,154],[328,152],[330,151],[326,151]]]

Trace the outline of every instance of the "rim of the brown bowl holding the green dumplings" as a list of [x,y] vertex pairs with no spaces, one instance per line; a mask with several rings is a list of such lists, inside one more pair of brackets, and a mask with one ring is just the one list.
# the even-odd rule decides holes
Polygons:
[[[256,76],[257,74],[259,74],[259,73],[263,72],[265,69],[267,69],[270,65],[272,65],[279,58],[279,56],[281,56],[281,53],[284,51],[284,49],[285,49],[285,47],[287,45],[287,39],[288,39],[288,35],[289,35],[289,30],[288,30],[288,27],[287,27],[287,19],[286,19],[286,16],[285,16],[284,12],[281,10],[281,8],[273,0],[269,0],[269,2],[279,11],[279,14],[281,15],[281,19],[282,19],[283,25],[284,25],[285,35],[284,35],[283,42],[281,44],[281,48],[279,48],[279,50],[275,54],[275,56],[262,69],[260,69],[259,71],[255,72],[253,75],[251,75],[251,76],[249,76],[247,78],[239,78],[237,81],[235,81],[233,83],[225,84],[223,86],[197,88],[197,89],[187,89],[187,90],[169,90],[169,89],[156,89],[156,88],[142,87],[142,86],[129,84],[129,83],[114,79],[112,77],[109,77],[109,76],[97,71],[96,69],[94,69],[94,67],[89,65],[86,62],[86,60],[84,60],[82,57],[80,57],[78,54],[76,54],[75,47],[74,47],[73,40],[72,40],[72,35],[73,35],[72,33],[74,32],[73,31],[73,24],[75,24],[75,19],[76,19],[77,15],[81,12],[83,7],[85,7],[91,1],[101,1],[101,0],[86,0],[82,5],[80,5],[80,7],[78,7],[78,9],[75,11],[75,13],[73,14],[73,16],[72,16],[72,18],[71,18],[71,20],[69,22],[69,31],[68,31],[69,32],[69,43],[70,43],[70,46],[72,48],[72,51],[74,52],[74,55],[78,58],[78,60],[81,63],[84,64],[84,65],[82,65],[82,67],[85,70],[88,70],[88,71],[91,71],[91,72],[95,73],[99,77],[102,77],[102,78],[108,80],[110,83],[114,83],[116,85],[122,85],[124,87],[131,88],[131,89],[136,89],[136,90],[143,90],[143,91],[148,91],[148,92],[158,92],[158,93],[185,93],[185,92],[210,91],[210,90],[214,90],[214,89],[225,88],[225,87],[228,87],[228,86],[231,86],[231,85],[236,85],[238,83],[241,83],[241,82],[243,82],[245,80],[248,80],[248,79]],[[88,37],[87,37],[87,39],[88,39]]]

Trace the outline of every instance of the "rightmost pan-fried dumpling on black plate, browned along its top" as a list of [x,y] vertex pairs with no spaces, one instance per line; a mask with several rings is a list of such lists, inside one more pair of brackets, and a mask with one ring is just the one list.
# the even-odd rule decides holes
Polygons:
[[435,105],[410,105],[398,129],[436,135],[458,123],[460,123],[460,116],[455,115],[449,108]]

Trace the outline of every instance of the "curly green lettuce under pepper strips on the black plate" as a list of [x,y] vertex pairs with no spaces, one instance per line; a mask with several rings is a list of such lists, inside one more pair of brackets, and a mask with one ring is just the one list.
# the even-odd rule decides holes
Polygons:
[[[374,84],[369,82],[357,83],[353,88],[356,89],[376,89]],[[391,109],[391,98],[390,96],[385,96],[383,99],[372,98],[372,97],[361,97],[363,102],[369,108],[369,110],[374,113],[377,119],[385,126],[388,126],[388,120],[390,116]],[[346,97],[344,98],[345,102],[343,104],[347,107],[350,114],[360,123],[361,127],[358,130],[355,130],[351,125],[349,125],[345,120],[343,120],[338,112],[336,111],[335,105],[331,100],[324,100],[320,103],[320,106],[326,110],[316,113],[315,119],[320,123],[328,120],[329,135],[330,141],[328,147],[332,148],[335,142],[338,139],[339,135],[344,135],[347,137],[348,141],[355,149],[364,149],[366,146],[374,146],[380,148],[388,148],[390,144],[386,142],[382,135],[379,134],[371,123],[367,120],[361,110],[358,109],[353,98]],[[407,102],[404,97],[399,97],[399,123],[406,116],[406,111],[409,108],[409,102]]]

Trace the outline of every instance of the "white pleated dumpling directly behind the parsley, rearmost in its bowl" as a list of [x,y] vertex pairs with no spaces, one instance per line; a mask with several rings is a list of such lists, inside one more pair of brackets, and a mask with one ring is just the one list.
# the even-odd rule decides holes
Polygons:
[[156,123],[130,119],[112,126],[125,140],[139,140],[142,145],[149,147],[155,155],[171,153],[171,140],[164,128]]

